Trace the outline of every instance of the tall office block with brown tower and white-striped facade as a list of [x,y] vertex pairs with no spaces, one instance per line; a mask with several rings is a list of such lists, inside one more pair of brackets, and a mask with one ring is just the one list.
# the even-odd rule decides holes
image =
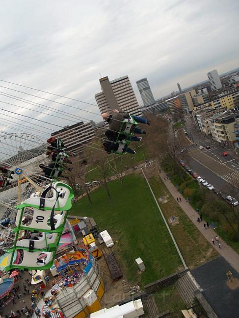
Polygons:
[[95,99],[102,114],[118,109],[135,116],[142,115],[128,75],[112,81],[106,76],[100,78],[100,84],[102,92],[95,94]]

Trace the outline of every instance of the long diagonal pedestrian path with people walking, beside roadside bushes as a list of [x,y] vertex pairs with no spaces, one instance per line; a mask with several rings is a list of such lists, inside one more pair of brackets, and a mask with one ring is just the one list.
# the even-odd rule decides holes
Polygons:
[[[204,222],[198,222],[197,218],[199,217],[198,213],[191,207],[191,205],[186,201],[186,199],[181,195],[180,192],[175,188],[175,186],[168,180],[166,174],[161,171],[159,176],[162,182],[167,187],[168,191],[177,200],[177,197],[181,198],[181,202],[178,202],[180,207],[186,213],[188,218],[195,224],[195,226],[199,229],[199,231],[203,234],[203,236],[208,240],[210,244],[212,244],[212,239],[217,235],[216,232],[211,228],[204,228]],[[215,240],[214,240],[215,241]],[[221,248],[219,248],[217,242],[215,241],[212,246],[217,250],[217,252],[225,258],[225,260],[231,264],[231,266],[237,270],[239,273],[239,254],[229,245],[226,244],[221,238],[219,238],[219,242],[221,244]]]

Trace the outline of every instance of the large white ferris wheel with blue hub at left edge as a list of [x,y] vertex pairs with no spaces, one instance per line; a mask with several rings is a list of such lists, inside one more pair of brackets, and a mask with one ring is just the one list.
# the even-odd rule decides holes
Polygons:
[[0,136],[0,213],[13,207],[32,192],[42,193],[42,185],[51,179],[44,175],[40,164],[48,165],[46,143],[27,133]]

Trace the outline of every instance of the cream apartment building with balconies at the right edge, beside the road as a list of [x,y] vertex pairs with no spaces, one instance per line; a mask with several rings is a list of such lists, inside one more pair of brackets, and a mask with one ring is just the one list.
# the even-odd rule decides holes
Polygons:
[[223,146],[234,148],[237,145],[235,133],[237,118],[239,118],[239,112],[231,111],[212,116],[209,121],[212,138]]

